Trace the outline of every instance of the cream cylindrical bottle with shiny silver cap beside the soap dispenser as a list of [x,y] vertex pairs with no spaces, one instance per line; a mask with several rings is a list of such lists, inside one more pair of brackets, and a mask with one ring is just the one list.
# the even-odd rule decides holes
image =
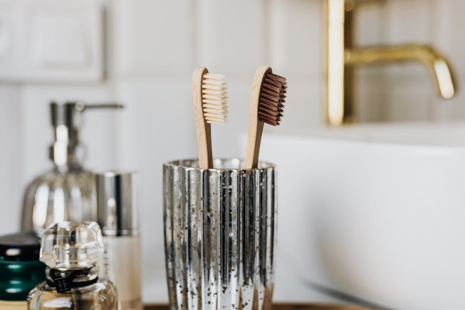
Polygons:
[[97,219],[105,245],[106,276],[118,290],[121,310],[142,310],[139,175],[96,174]]

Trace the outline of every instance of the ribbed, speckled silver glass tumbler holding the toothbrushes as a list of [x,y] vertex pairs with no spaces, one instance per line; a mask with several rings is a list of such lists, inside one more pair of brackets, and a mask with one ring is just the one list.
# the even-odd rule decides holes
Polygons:
[[275,167],[239,159],[163,167],[171,310],[269,310],[274,286]]

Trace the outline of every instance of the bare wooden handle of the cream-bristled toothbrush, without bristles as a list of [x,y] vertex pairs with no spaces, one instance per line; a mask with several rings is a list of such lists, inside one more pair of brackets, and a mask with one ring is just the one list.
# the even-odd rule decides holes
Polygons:
[[197,125],[199,168],[213,168],[211,124],[205,122],[202,107],[202,79],[207,68],[197,67],[192,74],[192,103]]

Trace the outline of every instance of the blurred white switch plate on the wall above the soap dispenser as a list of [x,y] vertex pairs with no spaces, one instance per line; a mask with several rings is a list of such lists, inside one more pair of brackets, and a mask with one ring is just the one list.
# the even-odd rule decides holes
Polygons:
[[0,80],[101,81],[102,13],[95,0],[0,0]]

